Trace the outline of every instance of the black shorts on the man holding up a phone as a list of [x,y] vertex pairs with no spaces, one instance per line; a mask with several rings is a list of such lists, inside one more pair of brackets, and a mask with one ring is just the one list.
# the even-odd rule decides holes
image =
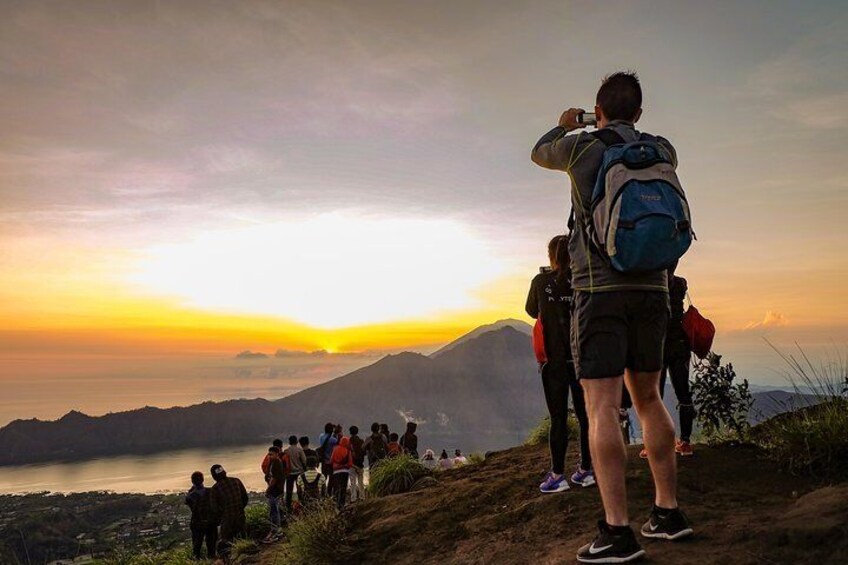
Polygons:
[[663,367],[668,294],[646,290],[575,292],[571,352],[578,379]]

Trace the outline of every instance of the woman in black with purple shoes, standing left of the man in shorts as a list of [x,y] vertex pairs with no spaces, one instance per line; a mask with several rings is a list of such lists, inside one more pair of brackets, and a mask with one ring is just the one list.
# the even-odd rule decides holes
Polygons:
[[[571,355],[571,258],[568,255],[568,236],[557,235],[548,243],[550,268],[543,267],[530,283],[525,310],[541,327],[542,343],[534,343],[545,403],[551,419],[548,445],[551,451],[551,470],[539,485],[550,494],[568,490],[565,475],[565,454],[568,451],[568,393],[574,405],[574,415],[580,425],[580,464],[571,475],[571,482],[584,487],[595,484],[589,449],[589,418],[583,388],[577,382]],[[534,330],[533,339],[539,337]],[[540,350],[542,353],[538,353]]]

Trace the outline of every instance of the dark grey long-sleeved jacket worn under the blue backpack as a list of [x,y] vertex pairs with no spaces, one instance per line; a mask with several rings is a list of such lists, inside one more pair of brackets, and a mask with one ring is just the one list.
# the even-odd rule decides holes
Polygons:
[[[633,124],[613,121],[612,128],[626,142],[639,139]],[[571,205],[574,208],[575,226],[568,242],[571,256],[571,285],[580,292],[609,292],[616,290],[649,290],[668,292],[665,271],[650,273],[620,273],[612,268],[609,259],[589,245],[583,228],[591,210],[592,192],[606,146],[586,131],[566,135],[562,127],[545,134],[533,148],[531,159],[546,169],[565,171],[571,178]],[[672,155],[677,166],[677,154],[667,139],[657,137]]]

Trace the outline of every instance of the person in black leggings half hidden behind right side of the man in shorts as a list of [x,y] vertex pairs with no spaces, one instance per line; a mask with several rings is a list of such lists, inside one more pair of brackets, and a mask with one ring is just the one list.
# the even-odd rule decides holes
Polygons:
[[680,419],[680,439],[675,442],[674,450],[684,457],[693,454],[692,424],[695,420],[695,406],[692,403],[692,391],[689,388],[689,365],[692,349],[683,332],[683,299],[689,290],[686,279],[674,275],[676,265],[668,270],[668,298],[671,302],[671,317],[665,335],[665,351],[662,376],[660,377],[660,396],[665,392],[666,374],[671,378],[671,386],[677,397],[677,409]]

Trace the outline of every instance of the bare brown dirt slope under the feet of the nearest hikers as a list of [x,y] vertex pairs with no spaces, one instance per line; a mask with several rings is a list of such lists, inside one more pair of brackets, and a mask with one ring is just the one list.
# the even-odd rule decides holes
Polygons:
[[[629,448],[632,525],[647,518],[648,464]],[[577,454],[569,452],[569,464]],[[490,454],[441,472],[438,485],[369,499],[350,510],[345,563],[574,563],[601,517],[596,487],[543,495],[546,446]],[[697,446],[679,461],[679,498],[695,527],[680,542],[642,539],[652,563],[848,563],[848,482],[786,475],[753,447]],[[270,547],[263,565],[283,563]],[[281,560],[282,559],[282,560]]]

